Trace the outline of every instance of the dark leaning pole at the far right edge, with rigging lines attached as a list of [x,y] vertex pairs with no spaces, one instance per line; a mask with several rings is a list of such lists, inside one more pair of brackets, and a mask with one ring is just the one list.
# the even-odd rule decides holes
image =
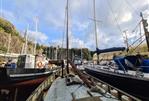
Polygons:
[[148,23],[147,23],[147,20],[143,18],[142,12],[140,13],[140,16],[142,18],[142,24],[143,24],[143,29],[144,29],[144,33],[145,33],[147,48],[148,48],[148,51],[149,51],[149,32],[148,32],[148,29],[147,29]]

